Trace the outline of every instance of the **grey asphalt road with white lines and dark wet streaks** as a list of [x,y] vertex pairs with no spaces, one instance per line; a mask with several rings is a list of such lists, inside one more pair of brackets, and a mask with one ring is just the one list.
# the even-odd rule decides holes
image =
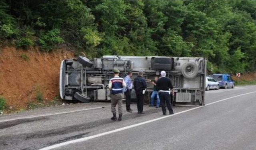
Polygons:
[[256,150],[255,108],[256,86],[207,91],[206,106],[175,115],[132,105],[121,122],[110,103],[49,107],[0,116],[0,150]]

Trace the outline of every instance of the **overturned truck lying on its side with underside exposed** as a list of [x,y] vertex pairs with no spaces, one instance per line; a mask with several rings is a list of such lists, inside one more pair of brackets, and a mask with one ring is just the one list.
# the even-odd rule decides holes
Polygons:
[[[145,79],[154,79],[164,70],[174,86],[174,105],[205,105],[206,59],[199,57],[113,55],[93,60],[83,56],[66,59],[60,65],[60,97],[84,103],[110,101],[107,86],[114,68],[120,70],[120,77],[132,71],[132,80],[140,70],[144,71]],[[147,84],[145,103],[153,91],[153,85]],[[134,89],[131,98],[136,101]]]

